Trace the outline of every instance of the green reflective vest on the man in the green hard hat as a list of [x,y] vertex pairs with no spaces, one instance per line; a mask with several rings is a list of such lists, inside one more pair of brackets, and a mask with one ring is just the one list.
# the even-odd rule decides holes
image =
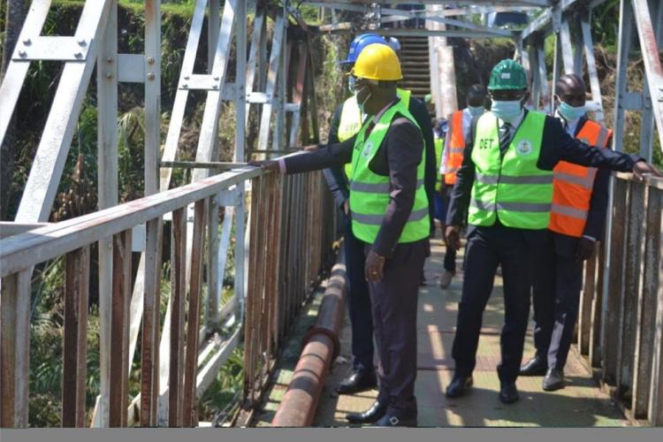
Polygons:
[[519,229],[545,229],[550,220],[552,171],[537,167],[545,114],[529,111],[504,156],[498,120],[491,112],[476,123],[472,148],[475,180],[469,204],[471,225],[499,222]]

